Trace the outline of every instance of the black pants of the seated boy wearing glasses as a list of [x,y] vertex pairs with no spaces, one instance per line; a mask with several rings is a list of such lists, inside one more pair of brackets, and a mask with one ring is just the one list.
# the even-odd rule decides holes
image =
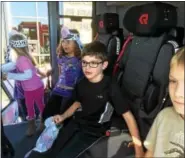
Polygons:
[[71,120],[60,130],[50,150],[45,153],[32,151],[28,158],[75,158],[99,138],[83,133]]

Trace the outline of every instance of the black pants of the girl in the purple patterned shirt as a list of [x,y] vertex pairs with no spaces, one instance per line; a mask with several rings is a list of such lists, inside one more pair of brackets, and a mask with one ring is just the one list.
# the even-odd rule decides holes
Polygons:
[[63,113],[72,104],[70,98],[52,94],[44,108],[42,118],[45,121],[48,117]]

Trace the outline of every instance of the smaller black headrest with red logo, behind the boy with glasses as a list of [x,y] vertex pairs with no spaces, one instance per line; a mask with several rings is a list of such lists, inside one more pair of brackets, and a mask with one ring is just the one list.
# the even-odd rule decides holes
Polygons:
[[116,13],[104,13],[96,15],[92,26],[98,33],[106,34],[119,30],[119,16]]

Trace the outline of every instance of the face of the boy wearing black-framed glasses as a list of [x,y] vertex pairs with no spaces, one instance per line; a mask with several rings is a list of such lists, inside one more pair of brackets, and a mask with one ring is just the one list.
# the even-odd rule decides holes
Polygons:
[[92,82],[98,82],[103,75],[103,70],[108,66],[108,62],[102,62],[95,56],[84,56],[82,58],[82,69],[85,77]]

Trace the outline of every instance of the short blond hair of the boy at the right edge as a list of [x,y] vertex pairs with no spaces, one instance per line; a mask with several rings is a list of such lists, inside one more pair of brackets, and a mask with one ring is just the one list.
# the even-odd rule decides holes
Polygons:
[[184,66],[184,48],[185,46],[181,47],[176,54],[173,56],[173,58],[171,59],[171,63],[170,63],[170,67],[174,66],[174,65],[182,65]]

